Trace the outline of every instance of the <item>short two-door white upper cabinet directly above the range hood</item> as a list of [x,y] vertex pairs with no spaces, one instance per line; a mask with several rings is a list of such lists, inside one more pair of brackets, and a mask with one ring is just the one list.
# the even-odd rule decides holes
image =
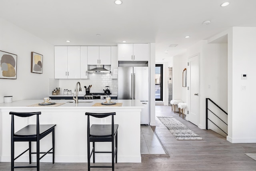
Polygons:
[[88,65],[111,65],[111,46],[88,46]]

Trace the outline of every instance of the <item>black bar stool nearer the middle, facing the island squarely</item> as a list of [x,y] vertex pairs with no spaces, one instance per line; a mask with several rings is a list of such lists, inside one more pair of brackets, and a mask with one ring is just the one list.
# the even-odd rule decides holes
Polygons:
[[[117,129],[118,124],[114,124],[114,115],[115,112],[112,113],[88,113],[87,119],[87,158],[88,158],[88,171],[90,168],[112,168],[114,171],[114,158],[116,157],[117,163]],[[93,124],[90,127],[90,116],[92,117],[108,117],[112,115],[112,123],[111,125],[96,125]],[[116,141],[114,141],[116,139]],[[92,142],[92,151],[90,151],[90,142]],[[112,142],[112,151],[95,151],[95,142]],[[115,145],[114,145],[115,144]],[[112,165],[111,166],[90,166],[90,158],[93,154],[93,163],[95,163],[95,153],[112,153]]]

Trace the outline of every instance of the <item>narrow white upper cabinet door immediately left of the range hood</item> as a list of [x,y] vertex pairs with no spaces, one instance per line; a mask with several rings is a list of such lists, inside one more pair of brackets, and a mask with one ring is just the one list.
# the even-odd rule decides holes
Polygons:
[[80,46],[80,78],[86,79],[88,75],[86,71],[88,70],[87,66],[87,46]]

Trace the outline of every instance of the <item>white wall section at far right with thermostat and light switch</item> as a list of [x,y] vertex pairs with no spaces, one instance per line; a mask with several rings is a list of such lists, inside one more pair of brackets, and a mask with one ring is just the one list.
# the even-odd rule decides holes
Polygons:
[[[256,142],[255,37],[255,27],[232,30],[232,134],[228,140],[233,143]],[[247,80],[241,80],[241,74],[247,74]],[[246,91],[241,91],[241,85],[246,86]]]

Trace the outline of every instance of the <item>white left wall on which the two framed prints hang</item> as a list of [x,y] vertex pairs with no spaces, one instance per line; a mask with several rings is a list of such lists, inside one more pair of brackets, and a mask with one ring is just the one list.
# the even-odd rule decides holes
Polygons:
[[[0,18],[0,50],[16,54],[17,79],[0,79],[0,103],[42,99],[49,95],[49,78],[54,78],[54,46]],[[43,74],[31,73],[31,52],[43,55]]]

